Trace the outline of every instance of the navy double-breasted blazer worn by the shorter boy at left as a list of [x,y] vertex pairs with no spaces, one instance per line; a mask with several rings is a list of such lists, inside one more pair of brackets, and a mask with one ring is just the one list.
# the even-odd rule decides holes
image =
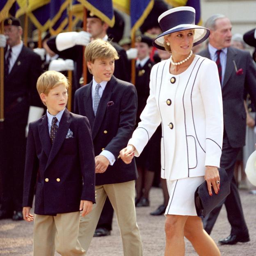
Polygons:
[[[69,129],[73,137],[66,138]],[[95,203],[95,160],[86,117],[65,109],[53,145],[47,115],[30,123],[27,137],[23,206],[56,215],[79,211],[80,200]]]

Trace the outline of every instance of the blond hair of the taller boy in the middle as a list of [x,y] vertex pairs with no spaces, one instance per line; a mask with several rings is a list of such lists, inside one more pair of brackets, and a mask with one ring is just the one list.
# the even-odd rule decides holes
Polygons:
[[[119,59],[117,50],[108,41],[102,39],[95,39],[89,43],[85,48],[85,60],[94,63],[95,59]],[[88,68],[89,69],[89,68]],[[89,69],[91,73],[91,70]]]

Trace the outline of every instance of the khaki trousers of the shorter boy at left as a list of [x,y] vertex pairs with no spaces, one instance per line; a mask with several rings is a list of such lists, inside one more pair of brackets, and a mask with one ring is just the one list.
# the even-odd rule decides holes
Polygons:
[[36,215],[34,219],[34,256],[85,256],[78,241],[80,212],[56,216]]

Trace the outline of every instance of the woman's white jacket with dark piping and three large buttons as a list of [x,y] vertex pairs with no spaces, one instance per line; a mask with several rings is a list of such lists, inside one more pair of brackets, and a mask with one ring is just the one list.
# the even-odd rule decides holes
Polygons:
[[162,123],[161,177],[168,180],[203,176],[205,166],[219,167],[223,114],[215,62],[195,55],[183,73],[169,73],[170,59],[155,64],[150,95],[128,144],[144,149]]

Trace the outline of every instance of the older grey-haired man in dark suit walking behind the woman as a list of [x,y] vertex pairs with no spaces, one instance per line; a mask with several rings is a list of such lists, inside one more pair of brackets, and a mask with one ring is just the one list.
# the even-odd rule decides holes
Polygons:
[[[231,47],[232,25],[228,18],[222,14],[213,15],[208,18],[205,26],[210,29],[209,44],[199,55],[214,60],[218,67],[224,115],[224,137],[220,166],[226,169],[231,183],[231,192],[222,202],[226,206],[231,233],[219,242],[222,245],[234,245],[237,242],[250,240],[233,172],[236,156],[242,146],[245,145],[244,89],[249,92],[254,105],[256,103],[256,69],[249,52]],[[222,204],[217,206],[204,220],[204,228],[209,234]]]

